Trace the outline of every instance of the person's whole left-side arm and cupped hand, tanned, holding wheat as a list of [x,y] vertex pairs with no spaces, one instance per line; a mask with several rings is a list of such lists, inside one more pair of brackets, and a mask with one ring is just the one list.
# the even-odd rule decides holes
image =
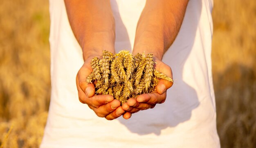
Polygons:
[[110,95],[94,95],[94,84],[86,78],[92,72],[91,59],[99,58],[103,50],[115,53],[115,20],[110,0],[64,0],[70,26],[83,50],[84,64],[76,76],[81,103],[87,104],[99,117],[115,119],[124,110],[120,101]]

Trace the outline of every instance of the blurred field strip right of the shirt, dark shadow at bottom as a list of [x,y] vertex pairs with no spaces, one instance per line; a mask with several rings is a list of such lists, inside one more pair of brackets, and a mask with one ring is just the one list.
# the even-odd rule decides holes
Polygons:
[[223,148],[256,147],[256,1],[215,0],[213,82]]

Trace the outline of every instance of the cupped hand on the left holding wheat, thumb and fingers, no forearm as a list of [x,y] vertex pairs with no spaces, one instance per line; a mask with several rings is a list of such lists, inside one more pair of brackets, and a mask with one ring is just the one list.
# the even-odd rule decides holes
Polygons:
[[95,87],[93,83],[86,82],[87,76],[92,72],[91,59],[89,57],[76,75],[76,87],[78,90],[79,101],[85,103],[92,109],[98,117],[105,117],[113,120],[124,114],[119,100],[111,95],[95,95]]

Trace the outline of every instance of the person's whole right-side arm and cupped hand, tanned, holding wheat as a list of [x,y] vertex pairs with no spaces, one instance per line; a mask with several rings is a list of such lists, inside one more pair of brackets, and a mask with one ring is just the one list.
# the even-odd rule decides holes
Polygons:
[[[156,62],[155,69],[171,78],[171,68],[162,62],[162,58],[180,30],[188,1],[147,0],[137,24],[133,54],[152,53]],[[131,98],[122,107],[130,113],[154,108],[157,103],[165,101],[166,90],[172,85],[160,80],[156,86],[157,92]]]

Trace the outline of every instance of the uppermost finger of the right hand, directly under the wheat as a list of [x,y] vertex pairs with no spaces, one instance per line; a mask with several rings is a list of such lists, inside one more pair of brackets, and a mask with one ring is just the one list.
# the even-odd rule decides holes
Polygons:
[[[158,94],[157,92],[151,92],[149,94],[141,94],[136,98],[136,101],[139,103],[148,103],[154,105],[157,103],[164,103],[166,99],[166,92],[163,94]],[[152,107],[152,106],[151,106]]]

